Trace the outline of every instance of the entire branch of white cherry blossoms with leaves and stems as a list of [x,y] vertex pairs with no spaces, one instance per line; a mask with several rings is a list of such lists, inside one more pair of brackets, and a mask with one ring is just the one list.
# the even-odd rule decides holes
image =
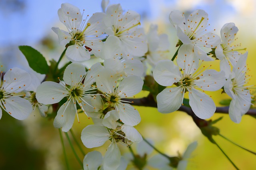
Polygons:
[[[184,170],[197,142],[188,145],[184,154],[168,156],[136,130],[141,117],[134,106],[156,107],[160,113],[183,111],[238,169],[213,137],[220,135],[230,141],[214,126],[222,117],[210,119],[214,113],[228,113],[233,122],[240,123],[245,114],[256,116],[256,109],[250,109],[255,106],[255,97],[251,86],[247,85],[250,80],[246,65],[248,52],[240,53],[239,45],[234,45],[238,32],[235,24],[226,23],[219,36],[206,29],[208,14],[204,10],[196,10],[188,16],[174,10],[170,12],[169,21],[179,40],[176,53],[170,56],[168,36],[159,35],[157,25],[150,25],[148,33],[144,33],[137,12],[124,12],[120,4],[108,5],[104,0],[102,6],[104,12],[96,12],[87,20],[89,16],[84,19],[84,11],[78,7],[68,3],[61,5],[58,16],[66,31],[52,27],[65,48],[57,62],[47,62],[30,46],[19,46],[34,71],[28,73],[12,68],[4,73],[1,66],[0,118],[2,110],[19,120],[38,110],[42,117],[54,119],[67,169],[70,163],[62,132],[84,170],[124,170],[128,164],[139,170],[147,166]],[[64,57],[68,62],[61,64]],[[205,63],[214,60],[218,60],[220,71],[212,65],[206,66]],[[224,101],[225,107],[216,107],[212,96],[205,93],[220,89],[231,98]],[[142,90],[149,95],[135,98]],[[92,149],[108,141],[104,156],[98,151],[85,154],[76,140],[72,127],[75,119],[80,123],[81,114],[94,123],[82,130],[83,145]],[[68,131],[83,154],[83,161]],[[133,143],[150,149],[143,152],[137,149],[136,153]],[[129,148],[131,158],[122,156],[121,145]],[[152,149],[158,154],[148,158],[148,150]]]

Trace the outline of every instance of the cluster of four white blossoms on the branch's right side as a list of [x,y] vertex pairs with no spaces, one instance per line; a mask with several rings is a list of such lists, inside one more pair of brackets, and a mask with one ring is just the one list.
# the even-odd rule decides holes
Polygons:
[[[188,18],[179,11],[172,11],[169,20],[179,38],[178,66],[174,64],[174,58],[156,64],[153,71],[156,82],[171,86],[157,95],[158,111],[170,113],[178,110],[183,105],[184,94],[188,92],[193,112],[201,119],[210,118],[216,106],[210,98],[212,96],[204,92],[220,90],[224,86],[224,91],[232,97],[230,118],[239,123],[241,116],[250,108],[252,96],[245,86],[248,80],[245,64],[248,53],[242,55],[238,52],[240,49],[236,49],[238,45],[232,45],[238,28],[234,23],[225,24],[220,33],[221,41],[212,31],[206,32],[208,14],[204,10],[196,10]],[[210,49],[208,53],[205,52],[207,48]],[[220,60],[220,72],[202,64],[213,61],[214,56]]]

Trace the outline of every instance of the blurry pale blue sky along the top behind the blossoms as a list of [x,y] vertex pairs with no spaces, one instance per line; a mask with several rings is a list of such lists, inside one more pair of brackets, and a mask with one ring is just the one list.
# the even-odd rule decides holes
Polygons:
[[[10,1],[10,0],[9,0]],[[51,27],[60,24],[57,11],[60,5],[69,2],[85,9],[85,14],[92,15],[101,12],[101,0],[11,0],[24,3],[23,10],[4,6],[0,2],[0,48],[9,45],[32,45],[50,33]],[[2,3],[2,4],[1,4]],[[228,0],[110,0],[110,4],[120,3],[123,10],[134,10],[148,20],[156,21],[162,18],[168,22],[170,11],[204,9],[210,20],[224,25],[224,18],[232,18],[236,14],[234,6]],[[182,8],[182,9],[179,9]],[[166,16],[160,16],[167,11]],[[234,18],[234,17],[233,17]],[[213,22],[213,23],[214,23]],[[229,22],[235,22],[232,19]],[[216,25],[214,23],[214,25]]]

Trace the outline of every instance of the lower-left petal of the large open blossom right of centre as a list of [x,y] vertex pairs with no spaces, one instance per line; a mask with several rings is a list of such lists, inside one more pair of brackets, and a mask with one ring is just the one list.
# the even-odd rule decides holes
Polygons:
[[160,113],[171,113],[182,104],[182,88],[166,88],[156,96],[157,109]]

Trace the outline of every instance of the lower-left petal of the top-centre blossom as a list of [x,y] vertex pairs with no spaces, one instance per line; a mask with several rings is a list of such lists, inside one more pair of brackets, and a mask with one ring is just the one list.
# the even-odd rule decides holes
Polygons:
[[121,54],[121,41],[118,37],[114,35],[108,36],[104,46],[102,48],[102,59],[112,59],[114,57],[120,56]]

